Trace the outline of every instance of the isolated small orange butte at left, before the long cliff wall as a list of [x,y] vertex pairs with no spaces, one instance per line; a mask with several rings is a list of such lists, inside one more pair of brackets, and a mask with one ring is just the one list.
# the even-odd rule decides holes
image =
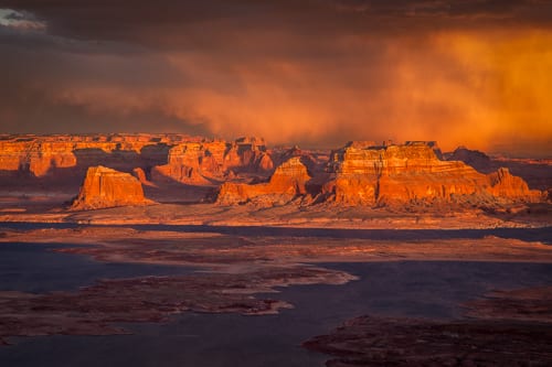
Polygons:
[[71,209],[98,209],[115,206],[148,205],[144,190],[135,176],[102,165],[92,166]]

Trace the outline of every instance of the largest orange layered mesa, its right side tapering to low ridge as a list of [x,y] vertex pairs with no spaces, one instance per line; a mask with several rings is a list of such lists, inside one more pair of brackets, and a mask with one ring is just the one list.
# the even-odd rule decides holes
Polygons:
[[465,203],[538,201],[509,172],[485,175],[459,161],[442,161],[433,142],[367,147],[349,143],[332,152],[328,170],[333,179],[322,194],[348,205],[404,203]]

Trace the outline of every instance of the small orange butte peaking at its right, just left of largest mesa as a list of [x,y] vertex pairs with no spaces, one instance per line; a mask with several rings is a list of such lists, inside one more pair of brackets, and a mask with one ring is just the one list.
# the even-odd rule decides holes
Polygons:
[[306,184],[309,180],[307,168],[299,156],[294,156],[282,163],[267,183],[224,183],[219,191],[216,203],[223,205],[247,202],[263,205],[285,204],[297,196],[306,195]]

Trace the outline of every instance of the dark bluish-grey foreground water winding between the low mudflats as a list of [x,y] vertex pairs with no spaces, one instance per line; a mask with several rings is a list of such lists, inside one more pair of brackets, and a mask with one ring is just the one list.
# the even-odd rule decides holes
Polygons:
[[[193,269],[99,263],[50,252],[50,245],[0,244],[0,289],[74,290],[97,278],[181,274]],[[269,294],[295,304],[278,315],[184,313],[168,324],[125,325],[135,335],[11,338],[0,366],[322,366],[302,341],[362,314],[457,317],[459,303],[493,289],[552,284],[552,266],[500,262],[328,263],[361,279]]]

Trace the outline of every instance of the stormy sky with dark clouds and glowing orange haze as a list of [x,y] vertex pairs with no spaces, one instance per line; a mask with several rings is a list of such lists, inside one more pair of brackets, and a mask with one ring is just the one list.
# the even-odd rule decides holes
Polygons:
[[0,0],[0,132],[552,156],[552,0]]

